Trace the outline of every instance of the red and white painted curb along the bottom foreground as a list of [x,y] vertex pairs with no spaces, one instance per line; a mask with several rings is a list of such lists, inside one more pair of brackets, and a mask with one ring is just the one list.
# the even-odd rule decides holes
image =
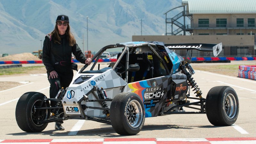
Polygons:
[[10,144],[256,144],[252,138],[106,138],[106,139],[30,139],[30,140],[0,140],[0,143]]

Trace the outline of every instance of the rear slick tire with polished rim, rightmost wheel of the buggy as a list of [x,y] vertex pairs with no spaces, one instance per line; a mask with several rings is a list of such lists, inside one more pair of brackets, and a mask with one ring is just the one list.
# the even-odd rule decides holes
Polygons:
[[228,126],[236,122],[239,102],[235,90],[229,86],[213,87],[206,96],[206,115],[216,126]]

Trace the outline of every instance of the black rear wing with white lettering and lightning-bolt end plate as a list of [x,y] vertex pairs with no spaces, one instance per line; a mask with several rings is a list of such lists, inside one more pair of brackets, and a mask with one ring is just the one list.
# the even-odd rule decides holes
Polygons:
[[222,43],[220,44],[164,44],[170,50],[197,50],[201,52],[213,52],[216,57],[222,50]]

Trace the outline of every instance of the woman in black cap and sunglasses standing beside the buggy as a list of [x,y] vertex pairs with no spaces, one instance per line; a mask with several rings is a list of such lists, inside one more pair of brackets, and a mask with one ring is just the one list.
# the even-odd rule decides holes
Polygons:
[[[76,44],[75,37],[70,32],[68,16],[59,15],[54,30],[51,34],[45,36],[42,54],[50,83],[50,98],[55,98],[61,87],[66,89],[73,79],[72,52],[76,56],[76,60],[83,64],[91,64],[92,59],[87,59],[84,56]],[[51,106],[56,106],[56,102],[51,101]],[[52,115],[63,114],[63,110],[61,112]],[[56,122],[55,129],[65,130],[61,124],[63,124],[63,121]]]

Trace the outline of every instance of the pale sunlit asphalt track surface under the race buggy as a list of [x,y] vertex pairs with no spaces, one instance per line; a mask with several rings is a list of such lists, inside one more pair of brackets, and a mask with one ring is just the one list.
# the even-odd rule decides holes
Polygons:
[[[101,67],[106,66],[106,64],[101,64]],[[28,82],[0,91],[0,140],[256,137],[256,81],[198,70],[193,77],[202,90],[204,98],[214,86],[228,85],[235,89],[239,98],[239,116],[234,125],[213,126],[208,121],[206,114],[179,114],[146,118],[142,131],[134,136],[120,136],[108,124],[76,119],[64,121],[64,131],[54,130],[54,123],[49,123],[43,132],[23,132],[15,119],[15,108],[20,96],[25,92],[35,91],[49,97],[47,76],[38,72],[35,75],[0,77],[0,82]],[[186,108],[185,110],[190,109]],[[192,109],[192,111],[194,110]]]

